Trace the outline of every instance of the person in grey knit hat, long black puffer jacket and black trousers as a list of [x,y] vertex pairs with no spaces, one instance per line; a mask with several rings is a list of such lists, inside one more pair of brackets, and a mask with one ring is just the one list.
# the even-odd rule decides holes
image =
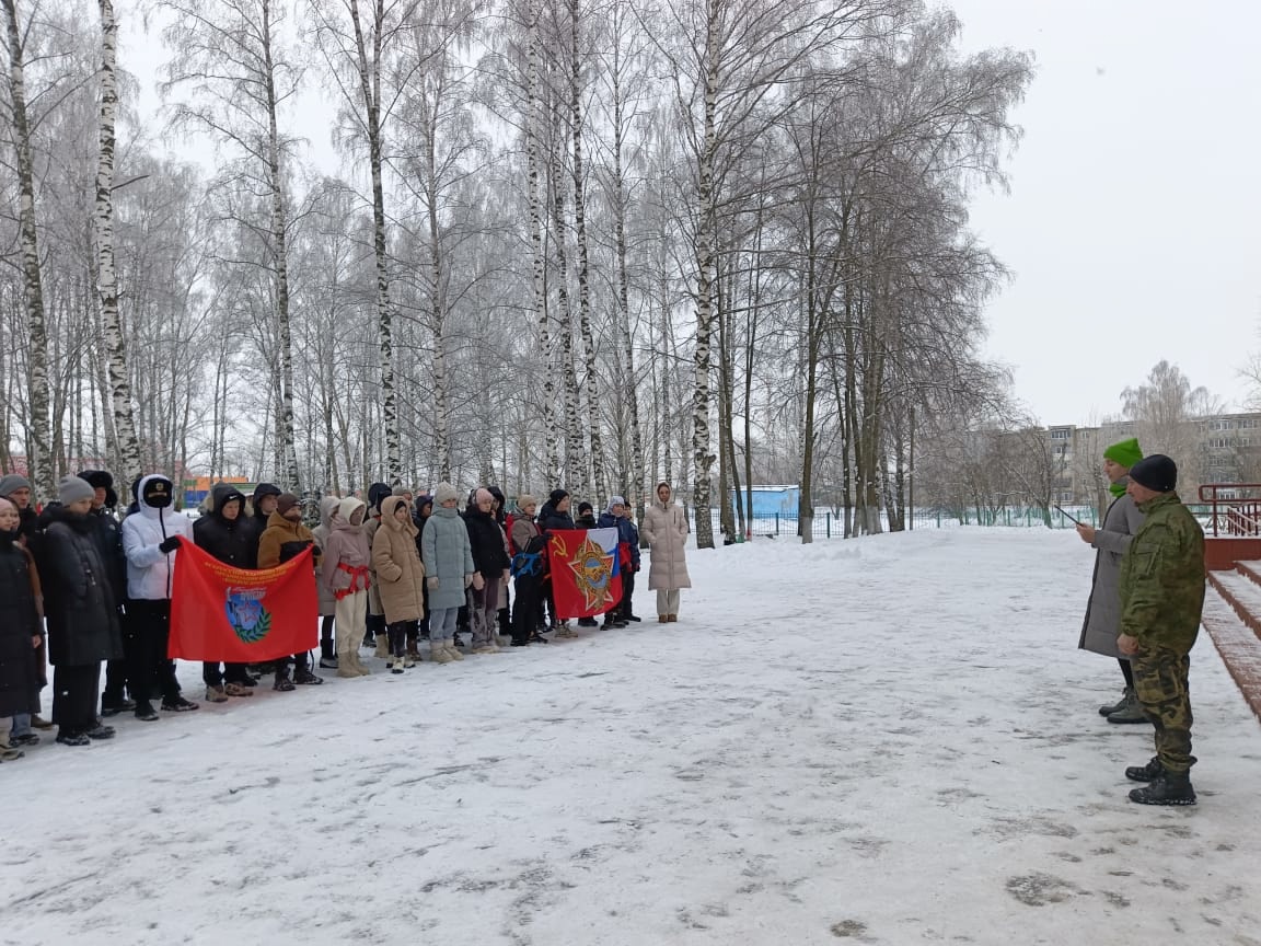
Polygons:
[[57,742],[87,745],[113,738],[96,718],[101,661],[122,657],[119,607],[110,576],[92,539],[92,487],[66,477],[61,505],[44,511],[39,574],[48,618],[48,656],[53,663],[53,721]]

